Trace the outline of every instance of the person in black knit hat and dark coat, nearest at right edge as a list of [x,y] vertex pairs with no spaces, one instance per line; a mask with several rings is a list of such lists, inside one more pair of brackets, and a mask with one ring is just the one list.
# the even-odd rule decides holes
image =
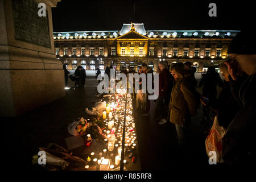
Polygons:
[[[230,167],[246,168],[254,165],[256,121],[256,41],[249,32],[241,31],[232,40],[225,61],[230,74],[230,90],[237,98],[240,110],[222,138],[222,158]],[[246,77],[241,79],[241,73]],[[242,80],[242,81],[241,81]]]

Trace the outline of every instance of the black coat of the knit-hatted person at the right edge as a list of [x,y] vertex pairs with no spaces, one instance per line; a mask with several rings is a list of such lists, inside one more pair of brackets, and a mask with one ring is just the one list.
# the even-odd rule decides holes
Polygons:
[[[230,86],[234,86],[230,77]],[[228,127],[222,138],[222,156],[228,166],[253,166],[255,160],[255,122],[256,122],[256,75],[247,77],[241,86],[230,88],[240,90],[242,107]],[[238,86],[238,85],[236,85]],[[233,94],[236,94],[233,93]]]

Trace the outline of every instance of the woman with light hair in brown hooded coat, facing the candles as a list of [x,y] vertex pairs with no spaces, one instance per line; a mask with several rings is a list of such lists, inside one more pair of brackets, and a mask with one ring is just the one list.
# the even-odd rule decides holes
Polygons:
[[170,67],[175,82],[170,100],[170,122],[175,124],[177,140],[180,148],[184,147],[191,115],[196,115],[196,98],[190,76],[181,75],[184,72],[183,63],[175,63]]

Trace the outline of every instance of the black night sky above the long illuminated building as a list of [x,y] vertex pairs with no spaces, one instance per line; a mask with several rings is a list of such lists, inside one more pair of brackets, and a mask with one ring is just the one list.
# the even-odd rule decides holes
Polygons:
[[[211,2],[217,17],[208,15]],[[250,1],[62,0],[52,8],[52,19],[55,32],[121,30],[131,21],[146,30],[241,30],[255,24],[254,9]]]

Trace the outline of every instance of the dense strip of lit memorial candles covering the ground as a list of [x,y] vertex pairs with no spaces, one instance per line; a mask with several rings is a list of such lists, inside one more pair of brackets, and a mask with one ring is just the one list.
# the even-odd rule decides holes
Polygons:
[[[135,140],[137,139],[134,128],[135,123],[133,119],[133,107],[130,94],[127,94],[127,107],[126,107],[126,132],[125,132],[125,146],[131,147],[132,149],[135,148],[136,143]],[[106,106],[106,111],[102,113],[102,119],[106,123],[106,128],[103,132],[108,136],[108,150],[113,151],[117,150],[118,155],[114,158],[115,166],[118,166],[121,160],[121,151],[122,151],[122,132],[123,132],[123,113],[125,110],[125,100],[123,97],[119,95],[113,96],[110,99],[110,103]],[[107,119],[108,114],[108,119]],[[115,126],[115,127],[114,127]],[[105,139],[107,142],[108,139]],[[103,152],[105,153],[107,149],[104,149]],[[91,156],[94,155],[94,152],[91,153]],[[112,154],[113,156],[113,154]],[[89,158],[89,157],[88,157]],[[94,158],[93,162],[97,162],[98,165],[106,164],[105,158],[97,159]],[[126,163],[126,160],[123,160],[123,163]],[[85,168],[88,166],[85,166]],[[114,165],[110,165],[110,169],[113,169]]]

